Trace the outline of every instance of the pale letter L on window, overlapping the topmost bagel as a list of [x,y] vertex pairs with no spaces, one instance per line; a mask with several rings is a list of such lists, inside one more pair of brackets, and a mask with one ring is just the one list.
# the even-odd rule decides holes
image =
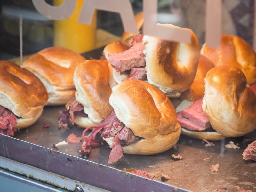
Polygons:
[[157,0],[143,0],[143,14],[143,34],[170,41],[191,43],[191,33],[188,29],[157,24]]

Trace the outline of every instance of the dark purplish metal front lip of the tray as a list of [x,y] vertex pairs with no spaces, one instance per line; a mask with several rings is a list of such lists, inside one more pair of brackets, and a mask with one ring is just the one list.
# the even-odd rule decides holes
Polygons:
[[0,156],[109,191],[187,191],[2,134],[0,145]]

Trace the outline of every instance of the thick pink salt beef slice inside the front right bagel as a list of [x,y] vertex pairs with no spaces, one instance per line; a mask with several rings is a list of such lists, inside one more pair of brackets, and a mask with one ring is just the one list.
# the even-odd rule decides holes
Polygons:
[[190,107],[177,113],[177,121],[181,127],[193,131],[203,131],[212,127],[208,116],[202,109],[203,98],[198,99]]

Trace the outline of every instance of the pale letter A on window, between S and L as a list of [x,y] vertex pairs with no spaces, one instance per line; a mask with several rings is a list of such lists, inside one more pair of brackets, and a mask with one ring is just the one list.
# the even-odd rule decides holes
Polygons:
[[90,25],[95,9],[120,13],[124,30],[139,34],[129,0],[84,0],[78,22]]

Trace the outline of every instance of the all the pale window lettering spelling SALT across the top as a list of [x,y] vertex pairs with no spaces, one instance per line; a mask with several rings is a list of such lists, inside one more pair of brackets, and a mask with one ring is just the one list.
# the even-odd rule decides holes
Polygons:
[[[76,6],[75,0],[64,0],[60,6],[51,6],[44,0],[32,0],[38,12],[52,20],[67,19]],[[84,0],[78,22],[90,24],[95,9],[120,13],[124,30],[139,33],[136,28],[132,6],[129,0]],[[256,0],[255,0],[256,10]],[[221,39],[222,0],[206,0],[205,42],[212,48],[220,47]],[[143,0],[143,34],[156,36],[171,41],[184,43],[191,42],[189,30],[172,28],[157,24],[157,0]],[[256,33],[256,14],[254,16],[254,34]],[[253,38],[253,47],[256,50],[256,37]]]

